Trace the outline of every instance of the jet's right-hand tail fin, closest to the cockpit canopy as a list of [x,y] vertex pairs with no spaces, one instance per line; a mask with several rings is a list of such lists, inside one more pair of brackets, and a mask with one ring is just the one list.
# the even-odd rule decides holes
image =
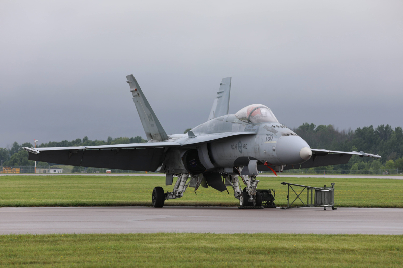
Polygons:
[[212,120],[223,115],[228,115],[228,110],[230,107],[230,93],[231,77],[223,78],[220,83],[220,89],[217,92],[217,97],[214,99],[208,120]]

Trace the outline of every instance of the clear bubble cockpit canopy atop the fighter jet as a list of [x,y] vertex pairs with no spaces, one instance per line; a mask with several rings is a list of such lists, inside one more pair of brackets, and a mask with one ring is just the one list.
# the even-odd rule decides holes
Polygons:
[[277,118],[274,116],[272,110],[262,104],[252,104],[239,110],[235,116],[247,123],[263,123],[263,122],[276,122]]

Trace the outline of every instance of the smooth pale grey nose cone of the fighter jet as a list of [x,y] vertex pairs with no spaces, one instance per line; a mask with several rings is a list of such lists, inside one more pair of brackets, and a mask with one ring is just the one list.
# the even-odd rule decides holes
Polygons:
[[309,145],[299,136],[283,136],[276,144],[276,154],[285,165],[300,164],[312,156]]

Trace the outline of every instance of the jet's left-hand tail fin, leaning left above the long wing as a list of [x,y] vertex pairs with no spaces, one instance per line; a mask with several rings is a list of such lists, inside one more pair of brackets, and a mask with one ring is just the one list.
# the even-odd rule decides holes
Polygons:
[[139,113],[144,131],[146,132],[147,140],[163,141],[167,140],[168,136],[162,128],[160,121],[155,115],[153,109],[148,103],[146,96],[144,96],[139,84],[135,77],[130,74],[126,76],[127,83],[130,85],[130,91],[133,94],[133,101],[135,102],[137,112]]

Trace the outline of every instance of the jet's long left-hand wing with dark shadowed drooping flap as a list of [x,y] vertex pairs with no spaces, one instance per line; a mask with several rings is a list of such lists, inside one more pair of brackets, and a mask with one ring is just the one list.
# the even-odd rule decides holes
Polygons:
[[165,150],[179,147],[177,142],[148,142],[102,146],[28,148],[29,160],[55,164],[155,171],[163,161]]

